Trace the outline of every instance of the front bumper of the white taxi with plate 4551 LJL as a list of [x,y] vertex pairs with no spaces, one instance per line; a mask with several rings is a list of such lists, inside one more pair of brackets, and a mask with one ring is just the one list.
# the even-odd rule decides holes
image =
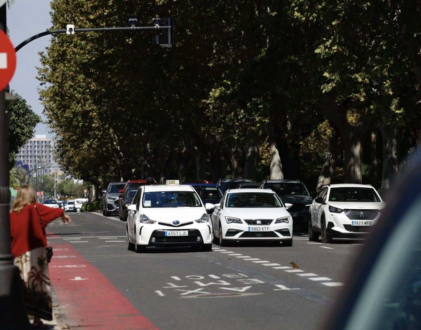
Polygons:
[[[138,245],[149,246],[193,246],[212,244],[213,233],[210,222],[192,223],[190,225],[165,225],[163,223],[137,223]],[[186,236],[165,236],[165,231],[188,231]],[[198,239],[200,238],[200,239]]]

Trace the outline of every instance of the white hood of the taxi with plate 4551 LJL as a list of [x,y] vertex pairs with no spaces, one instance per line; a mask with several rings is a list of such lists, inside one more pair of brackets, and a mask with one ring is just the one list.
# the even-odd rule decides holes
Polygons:
[[204,207],[159,207],[144,209],[144,214],[151,220],[172,223],[173,220],[179,220],[180,223],[186,223],[199,220],[206,213]]

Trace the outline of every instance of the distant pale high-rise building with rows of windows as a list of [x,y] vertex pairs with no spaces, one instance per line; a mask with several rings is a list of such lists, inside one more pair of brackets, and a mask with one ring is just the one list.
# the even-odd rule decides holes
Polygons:
[[[52,140],[47,139],[46,135],[35,135],[34,139],[28,140],[28,142],[19,149],[19,153],[16,154],[16,163],[21,161],[22,164],[29,165],[29,171],[42,168],[45,171],[45,175],[53,173],[53,159],[51,156]],[[45,166],[50,164],[50,166]]]

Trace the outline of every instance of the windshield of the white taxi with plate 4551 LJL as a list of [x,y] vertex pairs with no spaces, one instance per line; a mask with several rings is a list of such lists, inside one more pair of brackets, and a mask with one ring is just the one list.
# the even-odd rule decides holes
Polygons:
[[201,207],[193,191],[152,191],[144,193],[143,207]]

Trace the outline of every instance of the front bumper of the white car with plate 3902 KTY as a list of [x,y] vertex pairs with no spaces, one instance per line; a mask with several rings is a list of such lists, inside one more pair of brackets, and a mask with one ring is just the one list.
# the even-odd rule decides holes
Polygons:
[[[269,227],[268,231],[249,231],[250,227]],[[293,225],[277,223],[270,225],[247,225],[240,223],[223,223],[222,238],[227,241],[282,241],[292,239]]]

